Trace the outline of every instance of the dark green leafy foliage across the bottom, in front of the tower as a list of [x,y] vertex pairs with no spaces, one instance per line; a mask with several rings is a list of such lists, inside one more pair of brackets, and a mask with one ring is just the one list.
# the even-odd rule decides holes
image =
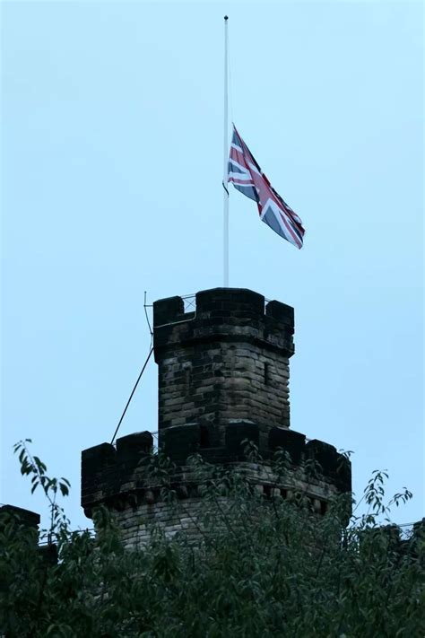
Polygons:
[[[256,494],[241,472],[220,471],[191,459],[204,497],[194,521],[198,539],[169,540],[152,527],[150,542],[124,550],[117,524],[95,512],[96,537],[69,529],[56,503],[64,478],[48,478],[24,441],[16,446],[22,474],[48,499],[50,542],[57,563],[39,552],[34,531],[10,517],[0,521],[0,635],[204,638],[309,636],[420,637],[423,534],[402,540],[385,502],[386,474],[376,472],[363,496],[369,511],[346,528],[347,503],[335,499],[323,517],[308,511],[303,494],[292,502]],[[250,461],[259,459],[250,450]],[[283,474],[288,459],[276,456]],[[213,471],[212,471],[213,469]],[[149,471],[170,507],[173,468],[161,455]],[[316,472],[317,468],[311,468]],[[34,487],[35,485],[35,487]],[[61,487],[61,485],[63,487]],[[65,487],[65,489],[63,489]]]

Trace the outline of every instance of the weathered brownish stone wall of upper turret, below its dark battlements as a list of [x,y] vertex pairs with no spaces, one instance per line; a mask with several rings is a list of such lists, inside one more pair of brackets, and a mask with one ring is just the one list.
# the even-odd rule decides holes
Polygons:
[[204,424],[215,445],[235,419],[252,420],[264,432],[288,427],[289,376],[288,357],[258,345],[176,347],[160,364],[160,424]]

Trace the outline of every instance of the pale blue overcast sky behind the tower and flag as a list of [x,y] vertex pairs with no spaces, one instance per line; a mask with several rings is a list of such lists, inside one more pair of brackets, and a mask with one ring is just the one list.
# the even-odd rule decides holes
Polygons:
[[[230,286],[295,308],[291,427],[386,469],[424,515],[423,7],[4,2],[0,502],[42,514],[13,443],[65,476],[110,441],[150,346],[147,300],[222,285],[230,120],[301,217],[296,249],[230,190]],[[157,370],[118,435],[157,429]],[[360,505],[359,511],[362,511]]]

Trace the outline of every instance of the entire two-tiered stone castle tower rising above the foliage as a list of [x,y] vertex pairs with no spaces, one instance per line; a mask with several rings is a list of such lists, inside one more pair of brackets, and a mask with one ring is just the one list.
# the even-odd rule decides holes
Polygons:
[[[268,459],[286,450],[302,476],[307,459],[322,468],[305,479],[312,509],[324,513],[334,495],[351,491],[351,467],[332,445],[307,441],[290,429],[289,360],[294,352],[294,313],[258,293],[214,288],[196,294],[185,312],[181,297],[153,304],[153,346],[159,371],[159,446],[176,465],[177,494],[195,514],[201,498],[187,458],[201,454],[211,464],[244,467],[257,489],[269,494]],[[249,467],[242,441],[256,444],[262,468]],[[82,507],[91,517],[100,503],[117,511],[128,546],[157,520],[169,534],[190,527],[186,516],[170,514],[143,465],[152,434],[135,433],[82,452]],[[279,490],[293,489],[292,473]],[[273,487],[273,490],[276,488]]]

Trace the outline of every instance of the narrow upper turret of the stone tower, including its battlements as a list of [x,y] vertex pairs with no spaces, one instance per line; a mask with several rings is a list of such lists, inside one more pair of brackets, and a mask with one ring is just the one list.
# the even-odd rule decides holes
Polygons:
[[250,419],[263,432],[288,427],[293,309],[248,290],[196,294],[195,312],[179,297],[154,303],[154,351],[159,365],[159,429],[224,425]]

